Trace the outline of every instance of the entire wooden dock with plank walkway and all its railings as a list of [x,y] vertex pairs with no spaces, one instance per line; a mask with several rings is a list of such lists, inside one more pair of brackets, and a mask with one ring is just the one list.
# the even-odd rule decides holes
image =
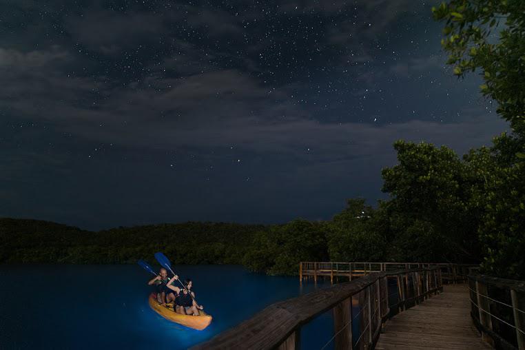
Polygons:
[[301,282],[339,283],[269,305],[191,350],[309,349],[302,327],[330,310],[323,349],[525,350],[525,281],[475,272],[464,264],[302,262]]

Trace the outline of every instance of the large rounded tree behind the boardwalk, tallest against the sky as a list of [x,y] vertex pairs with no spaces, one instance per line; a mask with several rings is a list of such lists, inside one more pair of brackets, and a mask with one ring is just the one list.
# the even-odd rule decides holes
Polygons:
[[[385,168],[383,191],[391,254],[409,261],[479,259],[479,214],[471,212],[471,179],[453,150],[397,141],[398,165]],[[400,251],[403,253],[400,254]]]

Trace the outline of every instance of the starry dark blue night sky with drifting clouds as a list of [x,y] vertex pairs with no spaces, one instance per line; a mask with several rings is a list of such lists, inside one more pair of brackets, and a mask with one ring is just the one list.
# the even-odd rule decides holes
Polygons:
[[325,220],[404,138],[508,129],[438,1],[0,3],[0,216],[103,229]]

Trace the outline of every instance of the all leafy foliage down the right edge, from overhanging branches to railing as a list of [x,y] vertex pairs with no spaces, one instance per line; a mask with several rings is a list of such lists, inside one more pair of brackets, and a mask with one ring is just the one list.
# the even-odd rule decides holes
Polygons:
[[511,123],[513,135],[464,156],[472,183],[468,205],[479,217],[482,269],[525,279],[525,1],[451,0],[432,11],[446,23],[442,47],[454,74],[481,70],[482,94]]

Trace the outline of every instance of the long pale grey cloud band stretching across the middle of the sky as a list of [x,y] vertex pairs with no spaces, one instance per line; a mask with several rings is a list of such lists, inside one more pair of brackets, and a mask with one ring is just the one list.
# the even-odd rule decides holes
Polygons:
[[[70,55],[60,48],[25,55],[16,50],[0,52],[9,52],[4,56],[10,57],[3,59],[10,69],[2,70],[6,88],[0,92],[6,110],[52,121],[56,130],[94,143],[145,150],[220,149],[236,144],[244,152],[286,154],[291,160],[327,164],[380,157],[391,152],[391,143],[398,138],[449,143],[466,150],[506,127],[496,116],[474,116],[475,110],[467,111],[459,123],[318,123],[315,112],[289,99],[294,85],[267,88],[239,70],[180,78],[157,72],[123,88],[103,76],[67,76],[56,63]],[[20,64],[25,61],[39,64],[26,71]],[[431,66],[418,59],[411,62],[418,69]],[[79,96],[94,91],[100,101],[79,101]],[[23,96],[31,96],[30,103]]]

